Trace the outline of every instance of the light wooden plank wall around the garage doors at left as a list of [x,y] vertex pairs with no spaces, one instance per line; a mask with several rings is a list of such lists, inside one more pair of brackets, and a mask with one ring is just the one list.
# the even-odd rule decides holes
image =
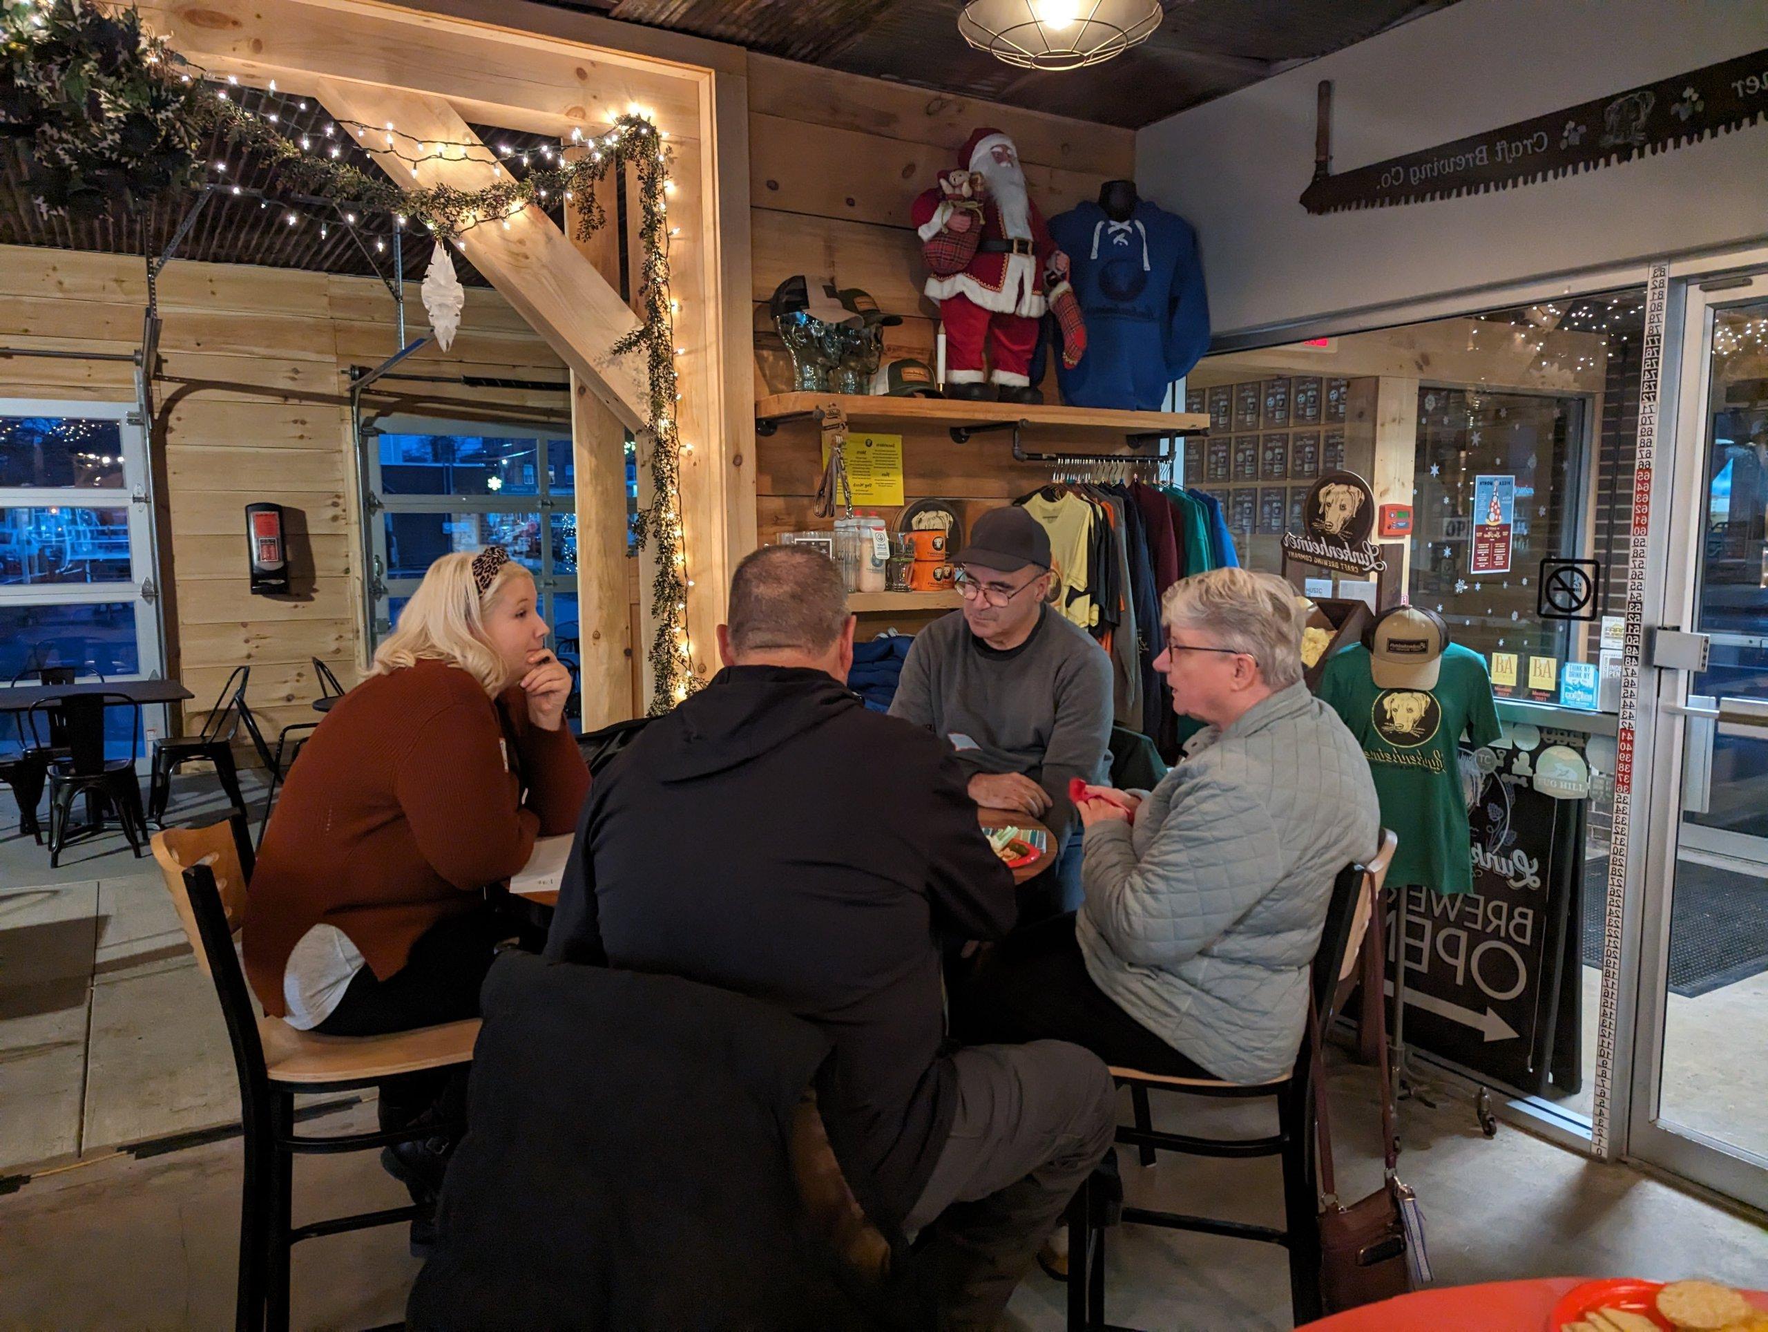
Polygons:
[[[0,343],[88,352],[138,347],[147,279],[140,258],[0,248]],[[361,570],[348,368],[398,348],[394,304],[375,279],[225,264],[171,264],[159,281],[161,364],[150,448],[164,479],[166,674],[214,700],[253,667],[248,699],[274,727],[311,722],[311,658],[348,686],[359,676]],[[408,336],[428,333],[415,290]],[[472,290],[463,327],[400,368],[564,382],[562,361],[495,292]],[[122,363],[0,357],[0,398],[133,402]],[[377,410],[569,421],[566,394],[394,384]],[[251,596],[244,506],[286,506],[290,598]],[[166,522],[170,518],[170,522]]]

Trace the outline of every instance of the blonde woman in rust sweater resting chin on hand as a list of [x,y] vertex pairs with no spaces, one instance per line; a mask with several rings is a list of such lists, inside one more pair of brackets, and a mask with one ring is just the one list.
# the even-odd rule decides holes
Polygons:
[[[537,835],[571,831],[589,792],[564,727],[571,674],[545,640],[534,578],[502,547],[430,566],[271,815],[244,925],[267,1012],[329,1035],[479,1012],[492,948],[511,932],[483,888],[520,870]],[[440,1090],[430,1076],[384,1086],[382,1125]],[[433,1111],[444,1137],[460,1127],[454,1100]]]

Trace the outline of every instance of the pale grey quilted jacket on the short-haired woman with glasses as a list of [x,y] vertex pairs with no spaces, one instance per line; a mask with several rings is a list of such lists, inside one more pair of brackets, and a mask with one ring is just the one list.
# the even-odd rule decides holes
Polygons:
[[1209,727],[1135,824],[1086,837],[1075,923],[1087,973],[1216,1077],[1294,1065],[1331,881],[1376,853],[1363,750],[1305,685]]

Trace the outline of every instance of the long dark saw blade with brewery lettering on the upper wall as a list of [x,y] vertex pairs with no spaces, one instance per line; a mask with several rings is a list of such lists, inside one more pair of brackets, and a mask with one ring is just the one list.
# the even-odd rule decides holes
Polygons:
[[1729,134],[1764,111],[1768,50],[1354,172],[1317,172],[1301,205],[1319,214],[1510,189]]

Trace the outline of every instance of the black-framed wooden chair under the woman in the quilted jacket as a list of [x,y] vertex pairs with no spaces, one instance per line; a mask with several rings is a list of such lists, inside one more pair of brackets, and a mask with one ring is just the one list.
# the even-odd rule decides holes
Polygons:
[[[1376,895],[1388,877],[1395,846],[1398,846],[1398,838],[1383,830],[1381,849],[1376,856],[1363,865],[1347,865],[1333,879],[1331,902],[1326,907],[1326,925],[1314,957],[1308,996],[1319,1014],[1321,1031],[1331,1026],[1338,1003],[1354,987],[1358,948],[1368,932]],[[1384,996],[1381,992],[1365,994],[1365,1003],[1384,1003]],[[1167,1229],[1202,1231],[1284,1245],[1289,1251],[1289,1302],[1296,1327],[1321,1318],[1321,1198],[1314,1144],[1314,1042],[1308,1035],[1301,1037],[1294,1067],[1268,1083],[1241,1084],[1206,1077],[1165,1077],[1140,1068],[1117,1067],[1110,1072],[1119,1086],[1130,1088],[1135,1107],[1135,1127],[1119,1125],[1117,1141],[1140,1148],[1144,1166],[1155,1162],[1156,1152],[1181,1152],[1193,1157],[1282,1157],[1284,1162],[1285,1224],[1282,1229],[1142,1206],[1124,1206],[1121,1219],[1140,1226],[1165,1226]],[[1153,1127],[1149,1091],[1216,1099],[1273,1097],[1276,1100],[1276,1134],[1269,1137],[1193,1137],[1162,1132]],[[1100,1187],[1089,1180],[1075,1194],[1075,1203],[1068,1212],[1070,1332],[1109,1332],[1105,1323],[1105,1224],[1100,1194]]]

